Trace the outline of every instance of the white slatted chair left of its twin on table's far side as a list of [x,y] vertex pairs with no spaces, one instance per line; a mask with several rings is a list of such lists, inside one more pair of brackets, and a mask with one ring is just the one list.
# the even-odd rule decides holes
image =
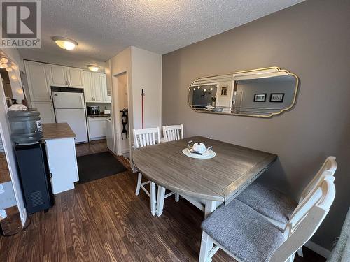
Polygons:
[[[134,149],[160,143],[159,127],[151,129],[132,129],[132,132],[134,133]],[[146,184],[150,184],[151,190],[149,192],[145,188]],[[152,181],[142,182],[142,174],[139,173],[135,194],[139,195],[140,189],[143,189],[145,193],[151,198],[151,213],[154,216],[157,209],[155,183]]]

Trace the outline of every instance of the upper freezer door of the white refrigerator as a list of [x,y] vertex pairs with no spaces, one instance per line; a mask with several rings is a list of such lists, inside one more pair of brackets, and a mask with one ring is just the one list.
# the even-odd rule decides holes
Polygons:
[[83,93],[52,92],[55,108],[85,108]]

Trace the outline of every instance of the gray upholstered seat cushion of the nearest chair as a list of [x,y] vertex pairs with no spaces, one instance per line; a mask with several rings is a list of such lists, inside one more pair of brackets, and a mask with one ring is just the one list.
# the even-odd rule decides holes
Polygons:
[[235,199],[205,219],[202,229],[244,262],[269,261],[285,240],[281,229]]

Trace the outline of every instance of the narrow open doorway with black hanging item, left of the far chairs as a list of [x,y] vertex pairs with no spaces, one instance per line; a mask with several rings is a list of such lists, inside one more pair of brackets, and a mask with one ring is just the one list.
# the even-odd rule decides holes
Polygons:
[[114,152],[125,158],[130,158],[130,119],[129,119],[129,87],[127,71],[113,76],[113,135]]

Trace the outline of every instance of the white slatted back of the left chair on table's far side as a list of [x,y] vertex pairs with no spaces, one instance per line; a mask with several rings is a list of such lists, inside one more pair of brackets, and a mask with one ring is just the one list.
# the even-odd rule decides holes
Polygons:
[[135,149],[160,143],[159,127],[150,129],[133,129],[133,133]]

